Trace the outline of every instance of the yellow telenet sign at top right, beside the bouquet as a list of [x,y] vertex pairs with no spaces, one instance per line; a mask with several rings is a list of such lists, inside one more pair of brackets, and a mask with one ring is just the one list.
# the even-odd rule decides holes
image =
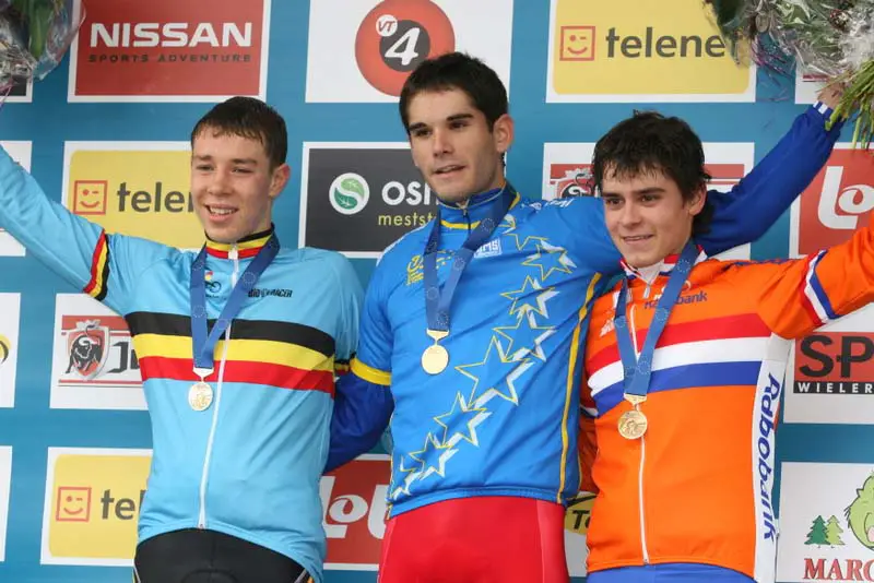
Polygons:
[[699,0],[552,0],[548,100],[755,99]]

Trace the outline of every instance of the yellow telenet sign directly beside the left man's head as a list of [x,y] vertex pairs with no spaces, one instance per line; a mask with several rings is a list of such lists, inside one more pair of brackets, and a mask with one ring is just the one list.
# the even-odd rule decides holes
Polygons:
[[198,248],[190,155],[188,142],[67,142],[62,202],[109,233]]

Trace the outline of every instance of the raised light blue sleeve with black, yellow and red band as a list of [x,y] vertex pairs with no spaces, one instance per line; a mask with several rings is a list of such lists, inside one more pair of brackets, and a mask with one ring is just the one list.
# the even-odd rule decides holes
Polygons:
[[62,279],[122,314],[131,311],[138,274],[175,252],[144,239],[107,234],[74,215],[49,200],[2,147],[0,227]]

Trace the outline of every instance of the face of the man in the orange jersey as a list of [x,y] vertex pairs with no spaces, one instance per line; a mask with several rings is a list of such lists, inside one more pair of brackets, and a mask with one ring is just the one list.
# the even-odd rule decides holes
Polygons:
[[610,236],[634,267],[682,251],[705,203],[704,188],[684,199],[676,182],[659,170],[616,176],[610,167],[601,197]]

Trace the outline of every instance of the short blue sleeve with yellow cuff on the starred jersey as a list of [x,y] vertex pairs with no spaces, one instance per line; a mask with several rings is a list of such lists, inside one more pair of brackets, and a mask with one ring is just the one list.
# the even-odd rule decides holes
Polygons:
[[391,384],[393,334],[388,319],[388,275],[386,255],[380,261],[364,296],[358,349],[352,359],[352,372],[361,379],[388,386]]

